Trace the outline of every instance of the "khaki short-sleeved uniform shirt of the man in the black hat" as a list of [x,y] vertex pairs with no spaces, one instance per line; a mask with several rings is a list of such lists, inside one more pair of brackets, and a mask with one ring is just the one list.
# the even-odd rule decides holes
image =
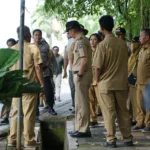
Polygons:
[[71,45],[73,47],[73,71],[79,71],[80,69],[80,59],[81,57],[86,57],[87,69],[86,71],[92,72],[92,50],[90,47],[90,43],[88,38],[86,38],[83,34],[79,34],[75,38],[75,42]]

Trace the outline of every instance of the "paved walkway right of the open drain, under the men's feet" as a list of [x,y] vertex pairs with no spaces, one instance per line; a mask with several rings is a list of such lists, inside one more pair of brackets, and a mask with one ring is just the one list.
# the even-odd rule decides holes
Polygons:
[[[65,150],[109,150],[109,148],[105,148],[103,146],[106,141],[106,129],[102,126],[103,122],[99,121],[100,125],[91,128],[92,137],[90,138],[72,138],[69,134],[67,134],[66,138],[68,138],[68,147]],[[67,121],[66,129],[69,132],[70,130],[74,130],[73,121]],[[117,137],[117,148],[118,150],[150,150],[150,140],[148,134],[142,132],[133,132],[133,143],[134,147],[124,147],[124,141],[122,140],[122,135],[116,127],[116,137]],[[67,133],[66,132],[66,133]],[[150,135],[150,134],[149,134]],[[73,145],[77,146],[77,148],[72,147]],[[112,148],[111,148],[112,150]]]

